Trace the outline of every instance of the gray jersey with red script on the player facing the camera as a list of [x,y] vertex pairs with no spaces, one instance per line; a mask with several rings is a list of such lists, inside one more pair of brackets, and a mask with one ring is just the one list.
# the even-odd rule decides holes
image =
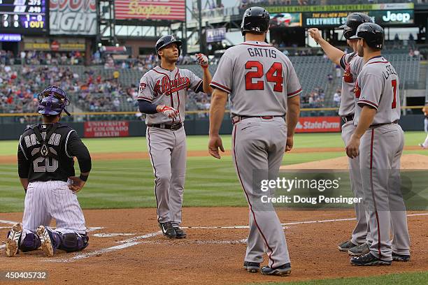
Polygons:
[[156,105],[167,105],[178,110],[172,122],[162,113],[146,115],[145,124],[171,124],[185,120],[185,98],[187,90],[200,92],[202,80],[187,69],[176,67],[169,71],[160,66],[152,68],[140,80],[137,100],[145,100]]

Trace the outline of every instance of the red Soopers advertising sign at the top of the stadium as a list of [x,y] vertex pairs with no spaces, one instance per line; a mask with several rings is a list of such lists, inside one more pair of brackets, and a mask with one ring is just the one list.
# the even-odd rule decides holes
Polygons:
[[185,0],[115,0],[116,20],[185,21]]

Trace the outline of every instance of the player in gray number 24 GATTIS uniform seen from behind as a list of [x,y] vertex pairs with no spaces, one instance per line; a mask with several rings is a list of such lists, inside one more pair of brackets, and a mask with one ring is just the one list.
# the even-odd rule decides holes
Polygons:
[[264,172],[261,179],[278,177],[284,152],[292,149],[299,119],[301,87],[292,63],[282,52],[264,42],[269,19],[264,8],[245,10],[241,24],[245,43],[229,48],[220,59],[211,82],[215,90],[210,110],[208,151],[217,159],[220,159],[218,149],[224,151],[219,130],[230,94],[234,122],[232,156],[250,207],[244,269],[258,272],[266,253],[269,266],[262,268],[262,274],[290,275],[283,227],[273,207],[257,209],[262,193],[257,185],[253,185],[255,170]]

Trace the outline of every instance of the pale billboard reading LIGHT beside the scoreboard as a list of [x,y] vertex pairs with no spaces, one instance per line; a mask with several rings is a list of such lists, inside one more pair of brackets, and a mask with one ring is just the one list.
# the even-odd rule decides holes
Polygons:
[[49,18],[52,35],[97,34],[96,0],[50,0]]

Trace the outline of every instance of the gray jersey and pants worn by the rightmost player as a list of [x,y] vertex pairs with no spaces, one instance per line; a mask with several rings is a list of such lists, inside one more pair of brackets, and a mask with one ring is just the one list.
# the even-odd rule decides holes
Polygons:
[[[399,189],[400,159],[404,132],[400,118],[399,78],[384,57],[373,57],[364,64],[355,85],[357,125],[364,105],[376,115],[359,145],[364,205],[370,224],[371,254],[385,261],[396,254],[410,254],[406,208]],[[393,240],[390,239],[392,226]]]

